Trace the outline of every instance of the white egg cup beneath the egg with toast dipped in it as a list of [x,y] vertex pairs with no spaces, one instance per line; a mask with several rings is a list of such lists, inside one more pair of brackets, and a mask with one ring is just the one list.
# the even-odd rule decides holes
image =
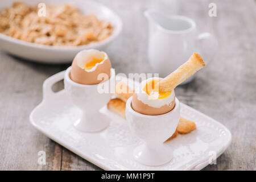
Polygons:
[[126,102],[126,118],[130,130],[143,144],[133,151],[135,160],[146,166],[160,166],[173,158],[172,150],[163,142],[174,134],[180,119],[180,102],[175,98],[175,107],[160,115],[144,115],[131,107],[132,97]]

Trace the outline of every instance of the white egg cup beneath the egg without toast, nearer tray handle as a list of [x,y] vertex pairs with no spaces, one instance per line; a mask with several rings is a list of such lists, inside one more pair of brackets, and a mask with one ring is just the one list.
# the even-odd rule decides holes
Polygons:
[[84,132],[96,132],[105,129],[109,126],[110,118],[100,113],[99,110],[109,102],[112,93],[110,91],[100,93],[98,88],[108,86],[107,90],[113,90],[111,86],[114,85],[115,81],[114,69],[111,69],[109,80],[96,85],[83,85],[72,81],[69,77],[70,71],[71,67],[65,71],[64,87],[73,104],[82,110],[82,115],[74,123],[74,126],[77,130]]

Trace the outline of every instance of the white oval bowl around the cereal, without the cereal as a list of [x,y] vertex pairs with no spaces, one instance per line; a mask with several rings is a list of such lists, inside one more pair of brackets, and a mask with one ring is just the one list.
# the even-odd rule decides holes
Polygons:
[[[11,7],[15,1],[16,0],[0,1],[0,10],[5,9],[6,7]],[[23,0],[22,2],[26,3],[27,5],[37,6],[42,1]],[[24,42],[22,40],[14,39],[10,36],[0,34],[1,49],[15,56],[22,57],[31,61],[43,63],[70,63],[75,55],[82,49],[104,49],[104,47],[112,42],[112,40],[114,40],[122,30],[122,20],[119,18],[119,16],[112,10],[108,9],[108,7],[105,7],[100,3],[90,0],[44,0],[43,2],[46,3],[46,6],[63,5],[65,3],[76,5],[84,14],[95,14],[100,19],[108,20],[114,27],[114,31],[112,35],[106,40],[76,47],[46,46],[42,44]]]

